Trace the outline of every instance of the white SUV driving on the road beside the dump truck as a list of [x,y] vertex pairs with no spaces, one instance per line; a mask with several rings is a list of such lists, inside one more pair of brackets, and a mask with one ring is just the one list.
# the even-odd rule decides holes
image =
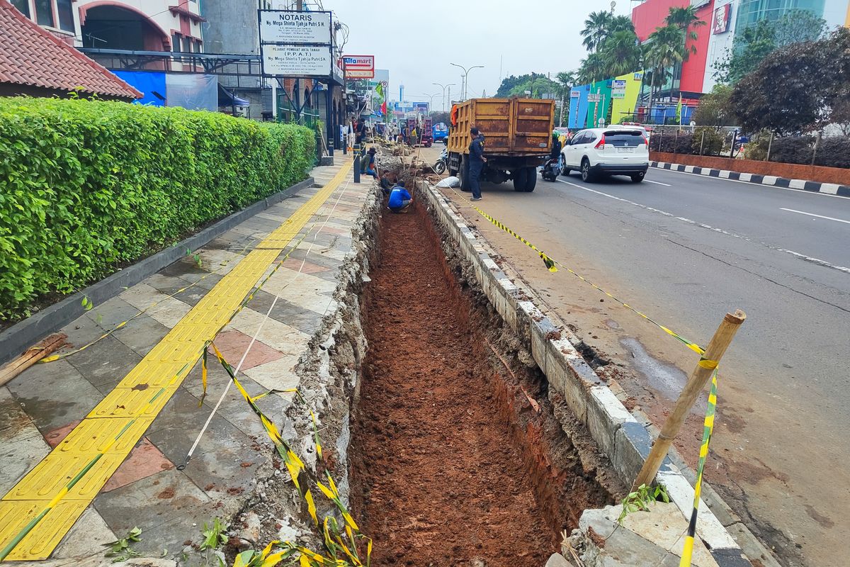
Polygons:
[[561,150],[561,174],[577,169],[583,181],[594,181],[602,175],[628,175],[640,183],[647,168],[649,142],[643,128],[581,130]]

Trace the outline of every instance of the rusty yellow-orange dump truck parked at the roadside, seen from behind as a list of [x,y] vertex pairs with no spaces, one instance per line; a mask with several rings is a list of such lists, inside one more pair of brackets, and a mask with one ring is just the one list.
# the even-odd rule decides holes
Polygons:
[[449,133],[449,173],[469,190],[470,128],[484,134],[484,169],[481,180],[504,183],[513,189],[533,191],[537,167],[552,148],[555,101],[541,99],[470,99],[452,108],[454,125]]

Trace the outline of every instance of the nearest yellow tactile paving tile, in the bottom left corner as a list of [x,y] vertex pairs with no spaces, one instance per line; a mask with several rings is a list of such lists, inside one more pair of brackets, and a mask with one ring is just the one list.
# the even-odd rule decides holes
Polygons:
[[[65,500],[52,508],[39,520],[12,551],[6,556],[8,561],[28,561],[48,558],[54,547],[65,536],[77,519],[88,507],[87,500]],[[42,513],[48,506],[47,501],[3,500],[0,501],[0,542],[12,541],[26,529],[26,525]]]

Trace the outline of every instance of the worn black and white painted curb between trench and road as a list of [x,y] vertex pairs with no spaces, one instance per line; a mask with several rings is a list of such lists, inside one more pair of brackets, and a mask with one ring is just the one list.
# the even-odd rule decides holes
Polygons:
[[[467,224],[452,201],[424,182],[417,184],[416,190],[425,197],[422,201],[428,204],[435,221],[445,227],[456,249],[472,265],[481,290],[530,351],[550,388],[564,397],[575,417],[587,426],[623,484],[631,485],[649,456],[657,428],[645,416],[638,419],[626,410],[575,349],[580,339],[555,315],[543,313],[545,303],[518,274],[507,265],[496,264],[496,252]],[[657,476],[685,519],[690,518],[694,505],[695,477],[675,450]],[[742,555],[759,559],[764,565],[778,565],[711,486],[703,484],[700,501],[697,536],[719,567],[749,565]]]

